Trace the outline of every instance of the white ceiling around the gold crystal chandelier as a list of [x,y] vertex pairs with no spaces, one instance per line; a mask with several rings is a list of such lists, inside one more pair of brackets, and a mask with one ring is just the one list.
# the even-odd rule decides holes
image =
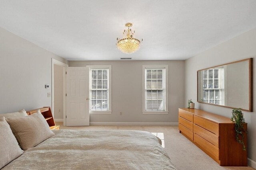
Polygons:
[[184,60],[255,28],[256,0],[0,0],[0,27],[67,60]]

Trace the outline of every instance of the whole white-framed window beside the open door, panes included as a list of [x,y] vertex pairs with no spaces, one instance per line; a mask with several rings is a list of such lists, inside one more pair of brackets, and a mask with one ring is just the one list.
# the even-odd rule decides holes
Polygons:
[[111,113],[111,66],[88,66],[90,70],[90,113]]

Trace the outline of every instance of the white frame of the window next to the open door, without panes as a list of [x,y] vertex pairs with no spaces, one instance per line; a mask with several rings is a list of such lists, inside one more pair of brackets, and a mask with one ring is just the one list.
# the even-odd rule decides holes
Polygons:
[[[109,87],[109,93],[108,93],[108,97],[109,97],[109,103],[108,103],[108,108],[109,110],[95,110],[95,111],[89,111],[90,114],[111,114],[112,113],[112,103],[111,103],[111,65],[86,65],[86,67],[89,67],[89,93],[90,93],[90,88],[91,88],[91,70],[92,69],[108,69],[108,73],[109,73],[109,77],[108,77],[108,87]],[[89,108],[90,109],[90,108]]]

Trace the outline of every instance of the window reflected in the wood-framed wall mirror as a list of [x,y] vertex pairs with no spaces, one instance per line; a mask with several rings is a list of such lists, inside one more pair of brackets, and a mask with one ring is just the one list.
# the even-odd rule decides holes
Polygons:
[[203,71],[203,101],[211,104],[224,104],[224,68]]

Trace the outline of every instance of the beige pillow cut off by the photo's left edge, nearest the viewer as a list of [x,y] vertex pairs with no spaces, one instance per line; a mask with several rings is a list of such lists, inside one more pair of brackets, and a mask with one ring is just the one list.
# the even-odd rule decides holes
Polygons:
[[23,153],[5,118],[0,118],[0,169]]

